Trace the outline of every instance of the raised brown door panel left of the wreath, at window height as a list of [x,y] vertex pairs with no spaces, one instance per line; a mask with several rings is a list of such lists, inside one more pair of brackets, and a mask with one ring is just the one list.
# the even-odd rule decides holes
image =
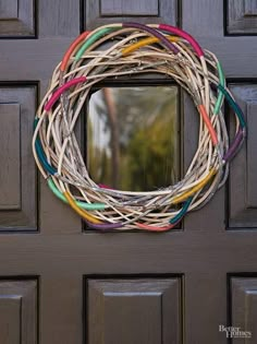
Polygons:
[[0,230],[37,229],[35,86],[0,85]]

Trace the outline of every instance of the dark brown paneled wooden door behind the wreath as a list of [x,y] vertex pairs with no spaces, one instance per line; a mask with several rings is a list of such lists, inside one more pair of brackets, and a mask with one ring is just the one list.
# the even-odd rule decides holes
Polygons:
[[[180,25],[217,54],[248,123],[227,186],[166,234],[87,230],[30,150],[36,107],[72,39],[127,20]],[[252,333],[233,343],[257,342],[256,34],[255,0],[0,1],[1,344],[222,344],[228,325]],[[183,174],[197,116],[175,96]]]

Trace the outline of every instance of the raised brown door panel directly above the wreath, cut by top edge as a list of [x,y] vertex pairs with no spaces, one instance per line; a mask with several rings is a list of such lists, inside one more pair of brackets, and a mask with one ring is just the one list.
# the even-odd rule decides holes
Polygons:
[[84,3],[85,29],[124,21],[172,25],[179,22],[176,0],[84,0]]

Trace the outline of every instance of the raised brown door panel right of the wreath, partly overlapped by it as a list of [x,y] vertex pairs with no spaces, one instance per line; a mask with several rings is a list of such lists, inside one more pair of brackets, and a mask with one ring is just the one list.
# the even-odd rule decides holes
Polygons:
[[[229,227],[257,228],[257,84],[231,85],[247,121],[247,138],[231,163],[229,181]],[[231,116],[232,118],[233,116]],[[234,122],[231,122],[231,132]]]

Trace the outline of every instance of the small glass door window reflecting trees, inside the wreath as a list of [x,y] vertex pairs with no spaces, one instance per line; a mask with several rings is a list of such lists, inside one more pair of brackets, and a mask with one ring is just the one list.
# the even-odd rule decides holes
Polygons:
[[149,191],[179,180],[176,86],[105,87],[88,105],[87,166],[106,187]]

